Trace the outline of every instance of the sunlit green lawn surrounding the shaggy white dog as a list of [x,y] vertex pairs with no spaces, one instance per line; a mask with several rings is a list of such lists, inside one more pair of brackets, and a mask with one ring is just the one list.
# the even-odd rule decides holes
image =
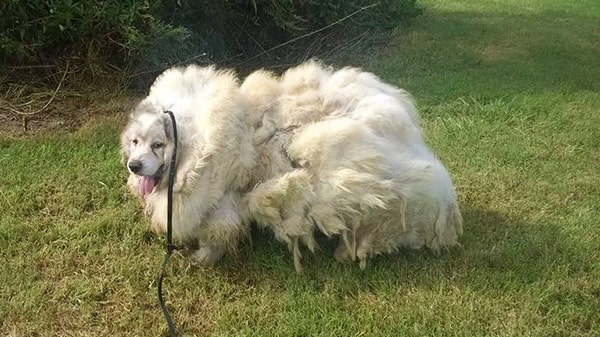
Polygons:
[[[600,5],[424,5],[357,63],[415,95],[463,247],[363,272],[325,245],[301,275],[261,236],[212,269],[176,255],[165,297],[182,335],[600,334]],[[163,240],[124,189],[122,122],[0,136],[0,335],[165,335]]]

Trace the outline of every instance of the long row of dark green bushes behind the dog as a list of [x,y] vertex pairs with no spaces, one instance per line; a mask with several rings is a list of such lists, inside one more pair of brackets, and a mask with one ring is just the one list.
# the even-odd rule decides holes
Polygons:
[[[0,61],[38,65],[94,60],[131,74],[189,61],[243,60],[374,2],[5,0],[0,3]],[[389,29],[419,12],[415,0],[378,3],[340,26],[349,34]]]

